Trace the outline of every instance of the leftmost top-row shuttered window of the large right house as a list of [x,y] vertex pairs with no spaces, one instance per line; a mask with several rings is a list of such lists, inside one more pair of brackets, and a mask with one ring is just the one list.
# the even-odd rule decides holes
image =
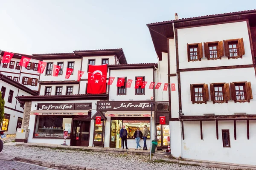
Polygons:
[[201,61],[203,58],[203,45],[202,43],[187,44],[188,61]]

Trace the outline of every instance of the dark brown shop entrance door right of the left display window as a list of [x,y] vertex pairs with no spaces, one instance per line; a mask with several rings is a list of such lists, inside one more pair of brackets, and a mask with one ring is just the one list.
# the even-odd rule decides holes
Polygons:
[[71,145],[89,146],[90,121],[73,121]]

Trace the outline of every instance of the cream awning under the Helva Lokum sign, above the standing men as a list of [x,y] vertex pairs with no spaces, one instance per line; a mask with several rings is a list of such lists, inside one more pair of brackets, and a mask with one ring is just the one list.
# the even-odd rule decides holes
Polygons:
[[[150,117],[151,111],[107,111],[105,116],[110,117]],[[152,112],[152,117],[154,113]]]

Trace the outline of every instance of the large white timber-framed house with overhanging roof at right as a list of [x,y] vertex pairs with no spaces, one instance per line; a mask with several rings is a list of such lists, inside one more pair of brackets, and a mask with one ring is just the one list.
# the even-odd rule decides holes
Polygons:
[[169,88],[173,156],[256,164],[255,21],[251,10],[185,19],[176,14],[147,25],[176,87]]

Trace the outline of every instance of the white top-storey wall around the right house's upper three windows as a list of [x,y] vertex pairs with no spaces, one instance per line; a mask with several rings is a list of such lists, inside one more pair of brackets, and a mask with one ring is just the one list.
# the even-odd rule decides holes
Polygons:
[[[178,29],[177,33],[180,68],[201,68],[215,67],[221,65],[253,64],[246,21],[237,23],[217,24],[211,26],[183,28]],[[245,55],[242,59],[227,59],[227,57],[221,57],[221,59],[207,60],[207,58],[204,57],[201,59],[201,61],[188,62],[187,43],[193,44],[203,42],[204,46],[204,42],[230,40],[237,38],[244,39]]]

